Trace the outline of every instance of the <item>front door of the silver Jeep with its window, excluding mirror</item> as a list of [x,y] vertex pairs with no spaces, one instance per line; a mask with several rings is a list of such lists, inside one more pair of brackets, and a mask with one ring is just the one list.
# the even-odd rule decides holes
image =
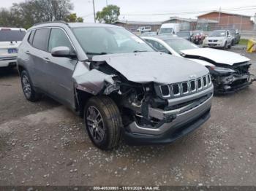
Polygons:
[[53,96],[62,103],[74,107],[72,74],[78,61],[72,58],[53,57],[50,52],[54,47],[69,47],[72,52],[75,52],[69,36],[62,28],[51,28],[50,30],[46,58],[48,61],[45,62],[45,67],[48,79],[51,82],[50,93],[53,93]]

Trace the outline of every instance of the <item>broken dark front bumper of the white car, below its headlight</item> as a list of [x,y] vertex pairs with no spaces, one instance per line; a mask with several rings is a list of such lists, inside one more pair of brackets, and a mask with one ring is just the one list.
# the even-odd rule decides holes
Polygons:
[[256,81],[256,79],[253,74],[231,74],[227,77],[215,77],[213,80],[214,93],[235,93],[238,90],[248,87],[254,81]]

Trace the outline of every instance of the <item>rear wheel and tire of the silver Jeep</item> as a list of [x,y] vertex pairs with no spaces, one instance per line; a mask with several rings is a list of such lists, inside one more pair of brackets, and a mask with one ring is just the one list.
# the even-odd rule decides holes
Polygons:
[[33,83],[29,77],[29,73],[26,70],[20,73],[21,87],[25,98],[29,101],[38,101],[41,95],[34,90]]

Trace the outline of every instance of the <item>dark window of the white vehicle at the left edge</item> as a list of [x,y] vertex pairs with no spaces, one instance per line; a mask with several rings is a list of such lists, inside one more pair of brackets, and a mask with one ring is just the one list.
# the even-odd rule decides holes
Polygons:
[[0,30],[0,42],[22,41],[26,31]]

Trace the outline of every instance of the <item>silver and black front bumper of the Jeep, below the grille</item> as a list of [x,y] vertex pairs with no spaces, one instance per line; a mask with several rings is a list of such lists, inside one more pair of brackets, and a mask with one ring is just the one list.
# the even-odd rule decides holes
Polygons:
[[[187,133],[199,128],[210,117],[213,86],[207,90],[209,93],[203,103],[199,103],[185,112],[158,112],[159,116],[176,112],[176,118],[165,122],[158,128],[141,127],[136,122],[128,125],[124,130],[124,138],[128,144],[165,144],[185,136]],[[155,112],[155,111],[154,111]],[[156,113],[156,112],[155,112]],[[156,116],[157,117],[157,116]]]

